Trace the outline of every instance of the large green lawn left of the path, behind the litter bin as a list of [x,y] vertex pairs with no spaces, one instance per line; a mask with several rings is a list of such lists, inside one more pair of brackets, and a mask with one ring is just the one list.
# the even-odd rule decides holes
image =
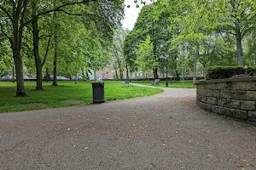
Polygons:
[[[15,97],[16,83],[0,82],[0,112],[28,111],[68,105],[81,105],[92,103],[91,82],[58,82],[57,87],[51,86],[52,82],[44,82],[43,91],[35,91],[36,82],[25,82],[26,98]],[[129,99],[150,96],[163,92],[158,88],[122,88],[123,82],[105,82],[105,100]],[[79,104],[62,103],[61,100],[81,100]],[[41,103],[44,105],[25,105]]]

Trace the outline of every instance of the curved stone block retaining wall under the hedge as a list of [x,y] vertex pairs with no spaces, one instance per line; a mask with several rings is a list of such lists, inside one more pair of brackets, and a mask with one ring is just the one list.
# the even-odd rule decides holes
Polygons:
[[196,101],[201,109],[256,122],[256,78],[196,82]]

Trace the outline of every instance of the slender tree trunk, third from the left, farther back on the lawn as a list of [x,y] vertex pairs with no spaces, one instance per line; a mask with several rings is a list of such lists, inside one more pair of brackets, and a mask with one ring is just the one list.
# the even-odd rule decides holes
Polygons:
[[[54,12],[54,20],[56,22],[57,19],[57,14],[56,12]],[[58,60],[58,40],[57,40],[57,31],[56,31],[56,26],[55,26],[55,35],[54,35],[54,44],[55,44],[55,58],[54,58],[54,70],[53,70],[53,82],[52,85],[53,86],[58,86],[57,84],[57,60]]]

